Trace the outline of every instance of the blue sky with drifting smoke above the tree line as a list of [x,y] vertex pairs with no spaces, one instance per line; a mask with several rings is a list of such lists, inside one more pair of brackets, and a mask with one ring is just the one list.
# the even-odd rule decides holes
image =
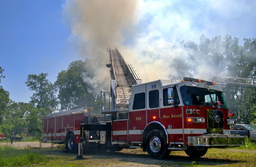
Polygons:
[[[129,53],[125,48],[140,55],[145,47],[155,44],[199,43],[201,34],[209,39],[231,34],[239,38],[240,45],[244,37],[256,37],[254,0],[130,0],[124,6],[110,0],[108,3],[117,3],[120,8],[113,15],[103,1],[94,2],[99,10],[86,0],[0,0],[0,66],[6,76],[0,85],[13,101],[29,102],[33,93],[25,84],[29,74],[47,72],[53,83],[70,62],[92,58],[93,48],[102,48],[107,54],[109,45],[117,45],[123,56]],[[91,13],[86,12],[90,8]],[[96,19],[88,19],[94,11],[99,12]],[[117,27],[111,37],[107,36],[113,29],[106,25],[109,21],[97,19],[108,14]],[[94,22],[98,25],[95,30]],[[82,45],[92,46],[92,51]]]

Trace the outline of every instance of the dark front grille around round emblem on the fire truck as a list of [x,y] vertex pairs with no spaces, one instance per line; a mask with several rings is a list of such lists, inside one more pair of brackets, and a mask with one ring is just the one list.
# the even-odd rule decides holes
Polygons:
[[[216,114],[215,114],[216,113]],[[214,122],[212,117],[213,116],[219,116],[220,122]],[[224,117],[223,117],[223,111],[220,110],[207,110],[207,133],[217,133],[222,134],[222,131],[224,129]]]

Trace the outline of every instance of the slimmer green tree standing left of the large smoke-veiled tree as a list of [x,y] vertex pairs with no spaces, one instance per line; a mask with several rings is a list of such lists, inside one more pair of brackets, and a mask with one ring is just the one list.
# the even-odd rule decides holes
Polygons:
[[58,107],[57,89],[54,84],[46,79],[47,76],[47,73],[29,74],[25,83],[30,91],[35,91],[33,96],[30,97],[31,104],[37,104],[37,108],[49,108],[54,111]]

